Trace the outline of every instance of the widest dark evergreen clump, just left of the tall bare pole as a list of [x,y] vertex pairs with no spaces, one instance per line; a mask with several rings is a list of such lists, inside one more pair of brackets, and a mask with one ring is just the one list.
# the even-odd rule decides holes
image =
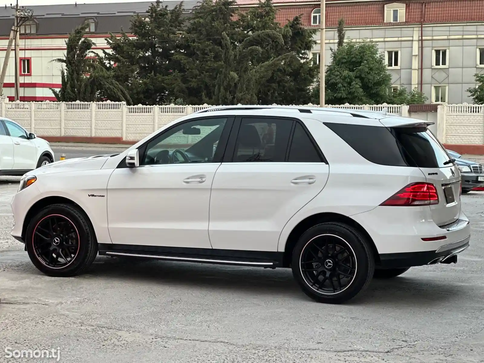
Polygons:
[[233,0],[203,0],[178,59],[188,103],[307,103],[316,68],[314,30],[299,17],[281,27],[271,0],[239,12]]

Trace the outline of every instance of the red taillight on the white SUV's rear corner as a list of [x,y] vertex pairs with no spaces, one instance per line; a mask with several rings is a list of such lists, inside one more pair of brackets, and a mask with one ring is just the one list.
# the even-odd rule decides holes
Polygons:
[[421,206],[439,204],[439,195],[434,184],[411,183],[385,200],[382,206]]

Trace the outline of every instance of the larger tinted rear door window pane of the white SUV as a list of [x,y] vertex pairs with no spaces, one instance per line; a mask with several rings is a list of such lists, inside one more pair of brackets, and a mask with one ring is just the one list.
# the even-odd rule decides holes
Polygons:
[[237,135],[234,162],[284,162],[292,120],[245,118]]

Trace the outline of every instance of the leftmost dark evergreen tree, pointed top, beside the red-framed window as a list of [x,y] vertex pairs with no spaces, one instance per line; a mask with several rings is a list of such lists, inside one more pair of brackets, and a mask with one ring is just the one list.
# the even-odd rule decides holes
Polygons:
[[[61,69],[61,90],[51,89],[58,101],[101,101],[118,99],[131,103],[126,90],[116,82],[96,62],[87,59],[96,53],[91,51],[94,43],[84,38],[89,24],[77,27],[66,41],[67,50],[64,59],[54,61],[63,64]],[[65,69],[64,69],[65,67]]]

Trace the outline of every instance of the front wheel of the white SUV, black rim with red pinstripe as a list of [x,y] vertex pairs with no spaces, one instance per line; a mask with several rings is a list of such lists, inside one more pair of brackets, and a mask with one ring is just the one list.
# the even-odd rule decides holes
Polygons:
[[88,217],[69,204],[54,204],[39,211],[27,227],[25,242],[35,267],[55,277],[80,274],[98,251]]

